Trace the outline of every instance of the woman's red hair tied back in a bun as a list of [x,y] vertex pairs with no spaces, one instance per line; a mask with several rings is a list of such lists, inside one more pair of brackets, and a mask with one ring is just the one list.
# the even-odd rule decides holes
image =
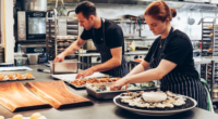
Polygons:
[[156,19],[165,22],[167,18],[172,21],[172,17],[177,16],[177,11],[173,8],[169,8],[165,1],[159,0],[150,3],[144,15],[152,15]]

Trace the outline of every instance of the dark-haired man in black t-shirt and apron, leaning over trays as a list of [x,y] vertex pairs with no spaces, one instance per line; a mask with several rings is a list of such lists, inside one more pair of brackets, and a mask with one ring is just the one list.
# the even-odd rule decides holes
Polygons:
[[77,74],[76,79],[93,75],[95,71],[124,77],[128,74],[128,64],[124,57],[122,29],[114,22],[100,18],[95,4],[89,1],[81,2],[75,13],[84,31],[71,47],[56,57],[55,62],[62,62],[66,55],[75,53],[88,39],[93,39],[100,53],[101,64]]

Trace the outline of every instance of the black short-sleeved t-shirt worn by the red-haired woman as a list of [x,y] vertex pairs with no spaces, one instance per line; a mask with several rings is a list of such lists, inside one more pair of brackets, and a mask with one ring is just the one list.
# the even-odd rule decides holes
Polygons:
[[[177,64],[177,67],[172,69],[171,72],[184,74],[198,79],[198,72],[194,67],[193,48],[190,38],[184,32],[177,29],[172,32],[172,37],[168,40],[169,41],[164,51],[162,60]],[[148,54],[145,57],[146,62],[150,62],[153,53],[155,53],[154,57],[159,56],[161,49],[160,44],[162,47],[166,39],[161,39],[160,37],[154,41]]]

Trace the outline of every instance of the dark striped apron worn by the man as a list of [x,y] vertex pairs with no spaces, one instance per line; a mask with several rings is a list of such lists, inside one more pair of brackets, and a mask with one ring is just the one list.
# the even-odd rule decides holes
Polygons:
[[[105,21],[101,18],[101,23],[102,23],[102,42],[101,43],[96,43],[95,41],[95,29],[93,29],[93,35],[94,35],[94,44],[96,47],[96,49],[98,50],[98,52],[100,53],[101,56],[101,63],[105,63],[107,61],[109,61],[110,58],[112,58],[112,55],[110,53],[110,48],[106,45],[106,40],[105,40]],[[128,75],[128,63],[125,61],[125,56],[122,54],[122,62],[121,65],[112,68],[110,70],[107,71],[102,71],[104,74],[110,75],[112,77],[124,77],[125,75]]]

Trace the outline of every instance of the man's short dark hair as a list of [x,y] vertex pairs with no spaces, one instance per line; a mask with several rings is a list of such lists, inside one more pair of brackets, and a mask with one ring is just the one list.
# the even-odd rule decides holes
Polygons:
[[75,13],[78,14],[80,12],[88,19],[90,15],[96,16],[96,6],[93,2],[83,1],[75,8]]

